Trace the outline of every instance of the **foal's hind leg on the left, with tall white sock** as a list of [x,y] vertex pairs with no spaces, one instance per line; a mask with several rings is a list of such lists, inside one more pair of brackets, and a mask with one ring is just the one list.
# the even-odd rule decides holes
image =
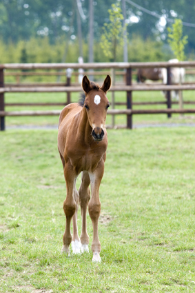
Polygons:
[[79,192],[74,188],[74,201],[76,203],[76,211],[72,216],[72,223],[73,223],[73,235],[72,235],[72,252],[73,253],[80,253],[81,250],[81,241],[78,235],[78,228],[77,228],[77,212],[79,208]]

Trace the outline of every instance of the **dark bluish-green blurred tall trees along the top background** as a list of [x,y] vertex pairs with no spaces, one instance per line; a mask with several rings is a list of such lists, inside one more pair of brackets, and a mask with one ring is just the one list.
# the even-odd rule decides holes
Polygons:
[[[107,10],[113,2],[113,0],[94,1],[94,40],[98,43],[101,28],[109,17]],[[81,3],[85,15],[88,15],[88,1],[81,1]],[[15,44],[20,40],[28,41],[32,37],[48,36],[50,42],[54,44],[59,41],[59,38],[65,40],[69,37],[70,39],[70,29],[77,37],[77,6],[75,4],[76,0],[30,0],[28,3],[23,0],[2,0],[0,1],[0,37],[5,43],[12,41]],[[166,14],[168,18],[172,18],[172,11],[174,10],[183,17],[183,21],[194,23],[195,1],[139,0],[138,4],[158,14],[162,14],[163,10],[163,14]],[[132,13],[138,16],[138,23],[130,21]],[[145,12],[141,13],[127,1],[126,15],[127,21],[129,21],[127,31],[130,38],[132,34],[136,34],[141,35],[143,39],[148,37],[156,39],[156,34],[161,34],[156,28],[159,19]],[[84,41],[88,40],[88,20],[89,18],[81,23]],[[190,52],[195,49],[194,28],[184,26],[183,31],[184,34],[189,36],[187,52]]]

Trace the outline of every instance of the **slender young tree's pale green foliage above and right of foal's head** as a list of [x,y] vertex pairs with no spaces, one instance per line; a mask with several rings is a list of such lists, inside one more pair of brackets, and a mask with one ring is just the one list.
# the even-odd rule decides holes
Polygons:
[[110,61],[116,61],[117,48],[123,46],[124,28],[123,14],[119,3],[112,4],[109,12],[109,23],[104,23],[100,46]]

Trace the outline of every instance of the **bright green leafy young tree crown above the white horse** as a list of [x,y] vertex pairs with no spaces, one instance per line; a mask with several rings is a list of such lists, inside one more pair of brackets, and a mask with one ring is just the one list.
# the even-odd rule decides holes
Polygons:
[[187,36],[183,37],[183,24],[181,19],[176,19],[172,28],[167,28],[168,42],[175,54],[176,59],[183,61],[185,59],[184,48],[187,44]]

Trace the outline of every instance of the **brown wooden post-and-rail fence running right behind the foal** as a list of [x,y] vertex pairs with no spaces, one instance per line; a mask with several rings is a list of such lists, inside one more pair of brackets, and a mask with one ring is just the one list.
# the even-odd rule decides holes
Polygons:
[[[167,114],[171,117],[172,113],[195,113],[195,109],[172,109],[172,101],[170,96],[171,90],[195,90],[195,84],[183,84],[183,85],[171,85],[170,84],[170,68],[194,68],[195,61],[183,61],[179,63],[169,63],[169,62],[152,62],[152,63],[8,63],[0,65],[0,125],[1,130],[5,130],[5,117],[6,116],[42,116],[42,115],[59,115],[59,110],[53,111],[12,111],[7,112],[5,107],[7,105],[32,105],[32,103],[6,103],[4,99],[4,94],[6,92],[67,92],[68,98],[66,103],[70,103],[70,93],[71,92],[81,92],[81,85],[71,86],[70,76],[67,77],[65,84],[61,86],[53,85],[6,85],[4,83],[5,70],[67,70],[71,68],[72,70],[79,70],[83,68],[84,70],[125,70],[125,85],[113,85],[110,89],[112,92],[115,91],[125,91],[126,92],[126,109],[116,110],[112,109],[107,112],[107,114],[126,114],[127,115],[127,128],[132,129],[132,115],[133,114]],[[167,85],[163,84],[150,84],[150,85],[133,85],[132,84],[132,72],[138,68],[167,68]],[[105,71],[103,71],[105,72]],[[26,72],[25,72],[26,73]],[[32,73],[32,72],[31,72]],[[35,72],[34,72],[35,73]],[[48,72],[50,73],[50,72]],[[7,72],[6,72],[7,74]],[[88,75],[91,75],[88,72]],[[8,75],[8,74],[7,74]],[[31,74],[32,75],[32,74]],[[47,74],[46,74],[47,75]],[[151,90],[163,90],[167,91],[167,101],[165,102],[150,102],[150,103],[133,103],[132,102],[132,92],[133,91],[151,91]],[[161,103],[167,104],[167,109],[159,110],[134,110],[132,105],[135,104],[154,104]],[[193,102],[187,102],[193,103]],[[65,103],[33,103],[33,105],[65,105]],[[123,104],[123,103],[115,103]]]

